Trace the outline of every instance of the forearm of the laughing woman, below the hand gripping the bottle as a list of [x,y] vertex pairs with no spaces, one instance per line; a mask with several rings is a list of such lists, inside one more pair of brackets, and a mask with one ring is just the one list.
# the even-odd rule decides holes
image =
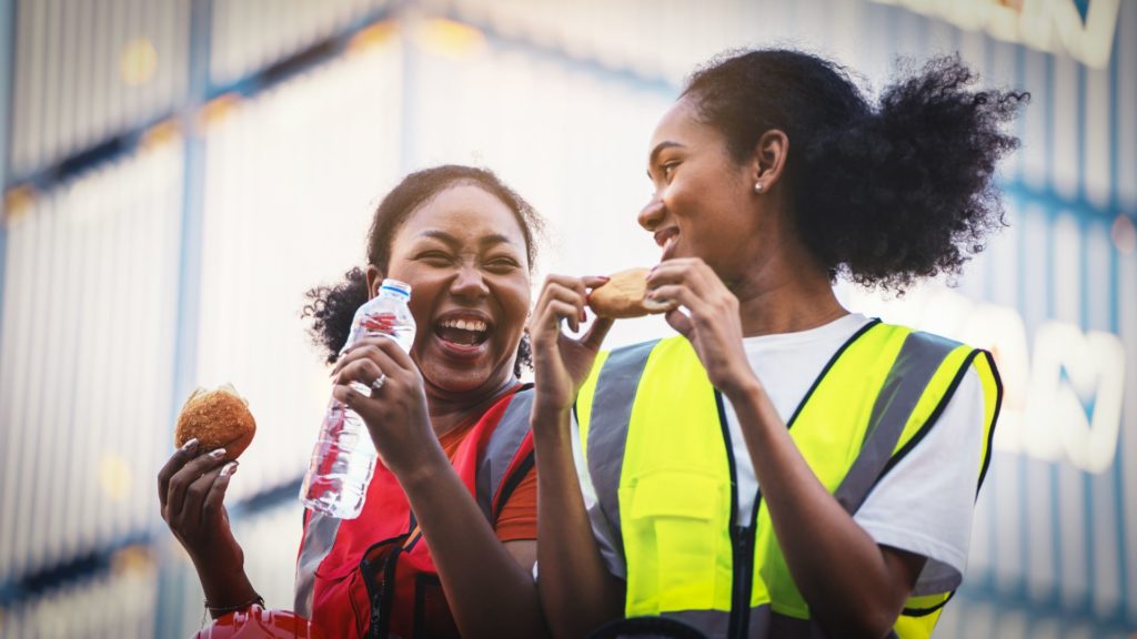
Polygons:
[[485,521],[438,448],[399,482],[430,545],[463,637],[543,637],[531,566],[522,566]]

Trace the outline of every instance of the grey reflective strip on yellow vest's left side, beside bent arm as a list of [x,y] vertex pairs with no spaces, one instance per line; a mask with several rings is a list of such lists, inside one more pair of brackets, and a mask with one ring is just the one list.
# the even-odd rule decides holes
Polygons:
[[659,340],[613,350],[600,368],[592,397],[588,425],[588,473],[596,487],[597,500],[612,524],[616,550],[623,556],[623,533],[620,522],[620,470],[628,445],[628,423],[632,415],[636,389],[647,357]]

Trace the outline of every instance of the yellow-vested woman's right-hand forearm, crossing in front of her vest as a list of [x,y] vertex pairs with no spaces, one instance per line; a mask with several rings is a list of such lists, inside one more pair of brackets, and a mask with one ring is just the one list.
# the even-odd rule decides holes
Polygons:
[[761,383],[729,398],[778,542],[811,611],[838,634],[882,636],[903,608],[911,566],[887,555],[821,484]]

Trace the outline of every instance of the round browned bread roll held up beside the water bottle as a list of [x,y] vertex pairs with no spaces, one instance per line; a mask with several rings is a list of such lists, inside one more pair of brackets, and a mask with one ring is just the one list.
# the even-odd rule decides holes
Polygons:
[[252,442],[257,422],[249,403],[225,384],[215,390],[197,389],[185,400],[174,429],[174,446],[198,438],[198,450],[225,449],[226,459],[236,459]]

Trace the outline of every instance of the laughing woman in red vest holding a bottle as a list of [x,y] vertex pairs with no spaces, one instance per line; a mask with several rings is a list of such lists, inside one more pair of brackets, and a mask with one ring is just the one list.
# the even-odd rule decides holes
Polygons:
[[[532,578],[531,390],[517,381],[540,225],[488,171],[421,171],[376,209],[366,268],[308,292],[333,392],[367,423],[381,460],[358,518],[305,513],[294,609],[329,637],[546,633]],[[409,356],[380,338],[337,360],[355,309],[384,277],[413,290]],[[372,397],[349,385],[380,379]],[[158,483],[163,517],[218,617],[263,601],[222,505],[236,462],[210,453],[188,443]]]

